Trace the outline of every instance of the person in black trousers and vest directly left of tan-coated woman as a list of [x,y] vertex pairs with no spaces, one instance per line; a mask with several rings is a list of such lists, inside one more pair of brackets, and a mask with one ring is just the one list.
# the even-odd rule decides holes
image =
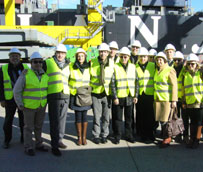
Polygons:
[[[141,47],[138,52],[138,63],[136,64],[139,96],[136,105],[136,133],[141,137],[141,141],[151,143],[155,140],[153,129],[154,118],[154,74],[155,63],[148,62],[149,52],[145,47]],[[147,104],[147,108],[146,108]]]

